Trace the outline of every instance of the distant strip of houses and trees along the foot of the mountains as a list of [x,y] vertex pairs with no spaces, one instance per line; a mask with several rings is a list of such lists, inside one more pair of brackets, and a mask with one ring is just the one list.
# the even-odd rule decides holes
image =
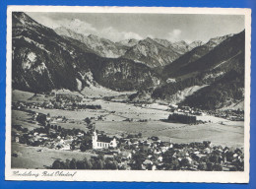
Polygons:
[[[48,101],[43,102],[34,102],[34,101],[16,101],[13,102],[12,106],[14,109],[62,109],[62,110],[71,110],[71,111],[78,111],[83,109],[95,109],[100,110],[101,105],[100,104],[88,104],[87,98],[83,98],[80,95],[65,95],[65,94],[46,94],[45,97],[52,97]],[[36,94],[34,94],[32,97],[36,97]],[[32,99],[31,97],[31,99]],[[93,99],[94,100],[94,99]],[[111,99],[109,99],[111,101]],[[128,103],[126,100],[123,101],[123,103]],[[157,104],[156,107],[153,105]],[[202,110],[199,108],[189,107],[185,105],[176,105],[176,104],[147,104],[147,103],[134,103],[135,106],[141,106],[142,108],[152,106],[152,109],[160,109],[164,110],[173,114],[182,114],[183,117],[194,117],[194,119],[197,116],[205,116],[205,115],[211,115],[214,117],[220,117],[224,118],[226,120],[231,121],[244,121],[244,110],[232,110],[232,109],[225,109],[225,110]],[[184,119],[182,119],[184,120]],[[192,119],[191,119],[192,120]],[[131,121],[131,120],[129,120]],[[146,120],[141,120],[146,121]],[[192,121],[191,123],[195,123],[196,121]],[[185,122],[187,123],[187,122]]]

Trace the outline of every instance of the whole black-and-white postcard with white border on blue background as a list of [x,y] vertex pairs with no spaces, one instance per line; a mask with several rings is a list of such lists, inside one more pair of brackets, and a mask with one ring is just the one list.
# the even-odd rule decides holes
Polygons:
[[249,10],[12,8],[11,180],[248,182]]

